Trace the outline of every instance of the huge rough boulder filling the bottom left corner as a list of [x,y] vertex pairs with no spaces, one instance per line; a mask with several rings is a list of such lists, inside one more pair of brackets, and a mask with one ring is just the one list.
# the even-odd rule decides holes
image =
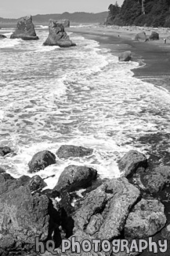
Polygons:
[[7,189],[0,194],[2,251],[10,251],[11,254],[14,254],[13,250],[30,251],[34,248],[35,236],[42,241],[47,239],[50,202],[45,195],[33,196],[31,191],[23,186],[13,190]]

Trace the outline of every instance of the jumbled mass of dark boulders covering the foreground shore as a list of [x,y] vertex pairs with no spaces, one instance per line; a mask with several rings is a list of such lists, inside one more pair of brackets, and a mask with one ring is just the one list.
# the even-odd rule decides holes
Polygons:
[[[7,147],[0,152],[6,158],[11,154]],[[92,149],[73,145],[61,146],[56,154],[40,151],[29,162],[29,172],[45,169],[57,158],[90,154]],[[110,243],[150,237],[169,240],[170,166],[156,167],[144,154],[130,150],[118,167],[121,177],[101,180],[95,169],[69,165],[51,190],[45,189],[45,180],[38,175],[14,179],[0,169],[0,254],[51,255],[36,252],[35,237],[44,244],[52,239],[59,255],[77,255],[61,250],[62,239],[72,237],[79,242],[107,239]],[[81,251],[81,255],[137,254],[141,253]]]

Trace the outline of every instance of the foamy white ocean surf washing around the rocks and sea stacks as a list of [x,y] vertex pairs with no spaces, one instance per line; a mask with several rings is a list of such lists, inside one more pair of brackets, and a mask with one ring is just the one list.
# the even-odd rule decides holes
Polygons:
[[41,150],[63,144],[92,148],[92,156],[56,159],[39,171],[56,185],[67,165],[87,165],[101,178],[118,177],[118,159],[139,150],[159,165],[170,163],[170,94],[164,87],[134,77],[138,62],[119,62],[95,40],[68,32],[76,47],[42,46],[48,35],[37,28],[38,41],[9,39],[0,30],[0,146],[15,154],[0,157],[14,177],[34,176],[28,162]]

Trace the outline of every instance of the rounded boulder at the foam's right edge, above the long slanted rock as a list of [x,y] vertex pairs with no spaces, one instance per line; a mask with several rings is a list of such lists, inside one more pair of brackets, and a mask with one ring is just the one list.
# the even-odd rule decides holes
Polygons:
[[139,167],[147,167],[147,159],[144,154],[137,150],[130,150],[118,161],[118,168],[121,171],[121,176],[129,177],[136,172]]

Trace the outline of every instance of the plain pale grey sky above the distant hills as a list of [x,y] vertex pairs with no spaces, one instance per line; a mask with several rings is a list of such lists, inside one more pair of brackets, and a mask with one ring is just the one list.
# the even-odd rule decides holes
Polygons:
[[[27,14],[100,13],[108,10],[116,0],[0,0],[0,17],[19,18]],[[124,0],[117,0],[121,6]]]

